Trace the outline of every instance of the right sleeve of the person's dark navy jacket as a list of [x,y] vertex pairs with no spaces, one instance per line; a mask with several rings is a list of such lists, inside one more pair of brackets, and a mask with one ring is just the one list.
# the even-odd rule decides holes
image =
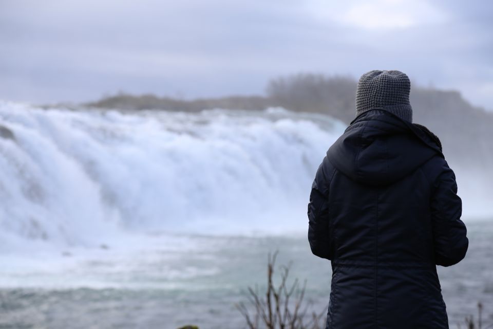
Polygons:
[[431,197],[431,220],[435,263],[450,266],[465,257],[469,240],[461,221],[462,200],[457,195],[456,176],[446,161],[442,169]]

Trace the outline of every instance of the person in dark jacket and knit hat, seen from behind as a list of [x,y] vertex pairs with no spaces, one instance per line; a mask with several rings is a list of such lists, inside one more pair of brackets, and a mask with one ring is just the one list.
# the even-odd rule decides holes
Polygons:
[[364,74],[356,117],[316,172],[308,240],[331,261],[327,328],[448,328],[437,265],[465,257],[462,200],[409,91],[401,71]]

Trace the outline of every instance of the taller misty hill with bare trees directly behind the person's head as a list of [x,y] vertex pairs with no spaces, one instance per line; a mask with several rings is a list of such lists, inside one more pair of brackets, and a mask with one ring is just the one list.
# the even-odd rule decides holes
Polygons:
[[[344,77],[296,75],[270,82],[273,103],[294,111],[330,114],[346,123],[355,117],[357,82]],[[426,125],[442,140],[454,165],[493,168],[493,112],[472,106],[457,91],[416,87],[411,83],[413,122]]]

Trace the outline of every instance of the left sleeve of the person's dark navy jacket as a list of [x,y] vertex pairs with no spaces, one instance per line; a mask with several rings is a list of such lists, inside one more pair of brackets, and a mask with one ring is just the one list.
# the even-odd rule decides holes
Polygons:
[[332,259],[330,241],[329,185],[334,173],[327,157],[318,167],[308,204],[308,241],[314,255]]

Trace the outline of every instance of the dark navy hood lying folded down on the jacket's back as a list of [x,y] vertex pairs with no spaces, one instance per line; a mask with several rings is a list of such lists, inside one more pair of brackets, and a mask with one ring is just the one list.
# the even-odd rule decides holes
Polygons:
[[441,143],[426,127],[384,109],[357,116],[327,151],[327,158],[352,180],[389,185],[443,156]]

